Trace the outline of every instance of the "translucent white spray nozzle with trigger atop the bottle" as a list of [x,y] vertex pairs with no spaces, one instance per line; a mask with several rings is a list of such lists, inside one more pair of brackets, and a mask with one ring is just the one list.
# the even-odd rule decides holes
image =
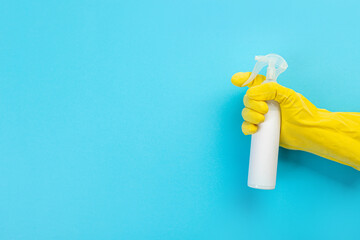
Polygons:
[[257,63],[249,79],[242,85],[245,86],[246,84],[250,83],[256,75],[263,69],[263,67],[268,65],[267,72],[266,72],[266,82],[276,82],[277,77],[280,73],[284,72],[288,65],[284,58],[277,54],[268,54],[266,56],[256,56],[255,60]]

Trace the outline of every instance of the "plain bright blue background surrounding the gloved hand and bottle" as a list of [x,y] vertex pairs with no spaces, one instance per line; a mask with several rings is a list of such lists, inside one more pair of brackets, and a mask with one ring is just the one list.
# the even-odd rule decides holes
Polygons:
[[356,1],[1,1],[1,239],[355,239],[360,173],[282,149],[246,185],[231,76],[359,111]]

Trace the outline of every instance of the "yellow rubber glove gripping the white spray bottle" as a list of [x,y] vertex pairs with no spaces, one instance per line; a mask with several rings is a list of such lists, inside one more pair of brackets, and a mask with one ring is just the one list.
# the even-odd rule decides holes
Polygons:
[[[250,74],[236,73],[231,82],[241,87]],[[255,133],[264,121],[268,111],[265,101],[275,100],[281,109],[281,147],[314,153],[360,170],[360,113],[319,109],[300,93],[274,82],[261,84],[264,80],[265,76],[258,75],[247,85],[242,112],[245,135]]]

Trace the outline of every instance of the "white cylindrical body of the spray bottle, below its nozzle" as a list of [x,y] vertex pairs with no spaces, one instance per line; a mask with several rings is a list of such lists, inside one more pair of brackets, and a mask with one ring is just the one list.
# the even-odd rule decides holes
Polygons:
[[280,106],[267,101],[269,111],[265,121],[251,137],[248,186],[258,189],[274,189],[280,142]]

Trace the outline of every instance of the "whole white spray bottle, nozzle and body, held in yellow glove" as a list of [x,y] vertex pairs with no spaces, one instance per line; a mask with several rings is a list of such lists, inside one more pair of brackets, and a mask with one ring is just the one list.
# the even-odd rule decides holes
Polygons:
[[[245,86],[268,66],[266,73],[267,82],[276,82],[280,73],[288,67],[285,59],[276,54],[256,56],[256,63]],[[280,141],[280,106],[275,101],[267,101],[269,111],[265,114],[265,121],[258,125],[258,131],[251,137],[250,163],[248,186],[258,189],[274,189],[276,184],[276,171],[278,163]]]

